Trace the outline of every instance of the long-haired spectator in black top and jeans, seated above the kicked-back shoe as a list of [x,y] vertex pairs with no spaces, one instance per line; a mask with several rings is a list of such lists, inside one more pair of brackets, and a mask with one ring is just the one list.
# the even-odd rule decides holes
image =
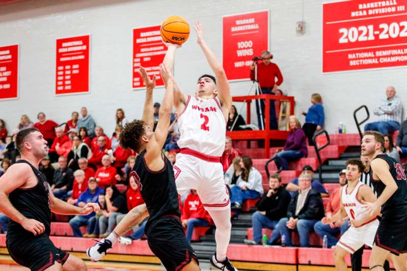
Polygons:
[[[105,190],[106,213],[99,219],[99,238],[106,238],[116,225],[116,218],[127,214],[126,198],[120,194],[114,185],[109,185]],[[103,233],[102,233],[103,232]]]

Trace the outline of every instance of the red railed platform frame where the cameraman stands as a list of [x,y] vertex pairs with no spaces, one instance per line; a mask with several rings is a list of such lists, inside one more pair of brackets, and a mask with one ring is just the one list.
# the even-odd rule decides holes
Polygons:
[[[244,131],[231,131],[226,132],[226,135],[233,140],[253,140],[260,139],[265,140],[265,155],[264,158],[270,157],[270,140],[285,140],[288,136],[288,131],[270,130],[270,103],[273,100],[280,100],[289,102],[289,114],[294,114],[295,101],[293,96],[282,96],[282,95],[250,95],[250,96],[237,96],[232,97],[234,102],[245,102],[246,103],[246,124],[251,123],[251,102],[252,100],[263,99],[265,100],[265,130],[244,130]],[[272,101],[270,101],[272,100]]]

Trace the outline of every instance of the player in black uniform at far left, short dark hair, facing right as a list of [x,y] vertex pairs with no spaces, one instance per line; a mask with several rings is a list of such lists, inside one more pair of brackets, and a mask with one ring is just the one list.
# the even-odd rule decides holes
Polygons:
[[31,270],[86,270],[83,260],[52,244],[51,212],[88,215],[99,205],[79,208],[53,197],[45,175],[38,170],[48,153],[47,141],[38,129],[20,131],[16,145],[21,160],[0,177],[0,212],[11,219],[6,237],[10,256]]

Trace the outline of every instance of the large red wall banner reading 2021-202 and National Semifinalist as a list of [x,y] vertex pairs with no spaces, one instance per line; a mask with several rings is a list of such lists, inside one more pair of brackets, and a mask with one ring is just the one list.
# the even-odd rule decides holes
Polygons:
[[407,0],[323,5],[323,72],[407,65]]

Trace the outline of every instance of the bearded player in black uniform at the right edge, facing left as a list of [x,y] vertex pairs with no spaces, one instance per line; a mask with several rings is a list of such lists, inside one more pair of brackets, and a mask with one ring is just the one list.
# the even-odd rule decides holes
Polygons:
[[402,166],[383,154],[384,137],[376,131],[366,131],[362,139],[362,155],[370,159],[370,180],[377,200],[366,203],[372,215],[381,215],[370,269],[383,270],[386,257],[391,255],[396,270],[405,270],[407,261],[407,179]]

